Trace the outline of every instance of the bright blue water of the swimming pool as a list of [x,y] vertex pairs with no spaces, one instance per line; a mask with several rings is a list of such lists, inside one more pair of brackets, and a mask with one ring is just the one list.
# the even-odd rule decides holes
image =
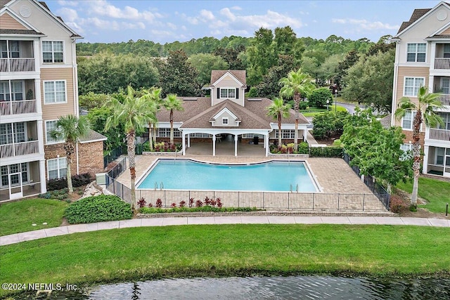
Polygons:
[[189,159],[158,159],[137,188],[170,190],[257,190],[316,192],[304,162],[272,161],[260,164],[226,165]]

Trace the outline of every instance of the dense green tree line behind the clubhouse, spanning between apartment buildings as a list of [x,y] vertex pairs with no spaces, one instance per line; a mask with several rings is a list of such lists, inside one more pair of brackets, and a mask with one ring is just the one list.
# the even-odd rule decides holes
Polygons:
[[[316,86],[332,82],[347,100],[390,111],[394,44],[335,35],[297,37],[289,26],[259,28],[253,37],[203,37],[158,44],[153,41],[79,43],[79,94],[162,88],[163,95],[205,96],[212,70],[246,70],[249,96],[275,98],[278,81],[302,68]],[[288,100],[288,99],[287,99]]]

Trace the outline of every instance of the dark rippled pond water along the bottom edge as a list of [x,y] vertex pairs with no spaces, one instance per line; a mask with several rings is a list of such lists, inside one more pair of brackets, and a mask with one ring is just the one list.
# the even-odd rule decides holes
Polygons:
[[[44,298],[42,298],[44,299]],[[92,287],[45,299],[450,299],[450,278],[347,278],[274,276],[185,278]]]

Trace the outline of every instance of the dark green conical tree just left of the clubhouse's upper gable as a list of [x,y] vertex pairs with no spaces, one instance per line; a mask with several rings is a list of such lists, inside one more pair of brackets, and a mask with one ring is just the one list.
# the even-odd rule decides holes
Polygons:
[[162,96],[176,93],[181,96],[200,96],[198,72],[184,51],[170,51],[167,62],[158,65]]

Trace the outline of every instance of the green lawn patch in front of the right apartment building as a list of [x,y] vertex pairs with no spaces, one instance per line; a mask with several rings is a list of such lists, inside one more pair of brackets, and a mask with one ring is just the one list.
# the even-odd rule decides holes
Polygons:
[[[413,183],[412,181],[400,182],[396,188],[411,194]],[[419,177],[418,196],[428,201],[427,204],[419,205],[419,207],[435,213],[445,213],[445,205],[450,203],[450,183],[433,178]]]

